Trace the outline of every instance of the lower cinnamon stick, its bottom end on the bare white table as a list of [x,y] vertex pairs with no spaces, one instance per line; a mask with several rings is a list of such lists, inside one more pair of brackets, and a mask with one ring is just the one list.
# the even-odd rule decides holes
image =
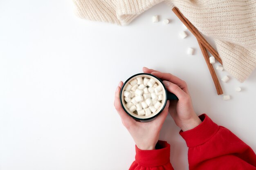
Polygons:
[[207,53],[207,50],[206,50],[206,48],[203,46],[203,44],[200,42],[200,40],[198,40],[198,44],[199,44],[200,49],[201,49],[201,51],[202,51],[202,54],[203,54],[203,56],[204,56],[204,60],[206,61],[206,64],[207,64],[207,66],[208,66],[208,68],[209,68],[209,71],[210,71],[210,73],[211,73],[211,77],[212,77],[212,79],[213,79],[213,82],[214,82],[216,91],[217,91],[218,95],[222,95],[222,94],[223,94],[223,91],[222,91],[222,88],[221,88],[221,86],[220,86],[220,82],[219,82],[219,80],[218,80],[218,77],[217,77],[217,75],[216,75],[216,73],[215,73],[215,71],[214,71],[214,68],[213,68],[212,64],[210,63],[210,61],[209,61],[209,55],[208,55],[208,53]]

